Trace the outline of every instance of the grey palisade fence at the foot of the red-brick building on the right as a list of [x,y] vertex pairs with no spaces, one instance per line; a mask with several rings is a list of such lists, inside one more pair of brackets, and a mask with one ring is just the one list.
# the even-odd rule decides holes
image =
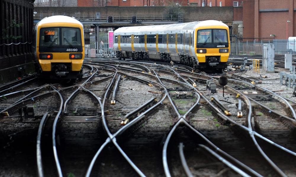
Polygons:
[[231,55],[262,55],[263,44],[274,44],[274,52],[276,55],[284,55],[285,53],[295,53],[295,40],[261,40],[261,41],[249,41],[246,42],[230,42],[230,54]]

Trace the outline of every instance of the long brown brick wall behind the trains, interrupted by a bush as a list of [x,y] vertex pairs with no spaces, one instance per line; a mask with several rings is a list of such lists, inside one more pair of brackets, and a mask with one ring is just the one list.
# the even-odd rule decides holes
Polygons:
[[[221,20],[223,22],[233,21],[233,7],[197,7],[183,6],[184,22],[201,21],[201,20]],[[80,15],[91,16],[96,12],[101,15],[126,16],[127,14],[150,14],[160,16],[164,14],[165,7],[149,6],[149,7],[35,7],[36,16],[42,14],[43,17],[52,16],[52,14],[72,14],[80,12]]]

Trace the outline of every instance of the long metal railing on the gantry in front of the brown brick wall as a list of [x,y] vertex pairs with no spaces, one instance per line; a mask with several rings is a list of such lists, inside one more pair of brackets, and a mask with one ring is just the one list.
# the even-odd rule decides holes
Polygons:
[[50,17],[54,15],[65,15],[69,17],[75,17],[78,20],[99,20],[107,21],[108,17],[113,17],[113,21],[131,21],[132,17],[136,17],[136,20],[141,21],[183,21],[183,14],[81,14],[80,12],[65,14],[57,12],[37,12],[34,15],[34,19],[43,19],[44,17]]

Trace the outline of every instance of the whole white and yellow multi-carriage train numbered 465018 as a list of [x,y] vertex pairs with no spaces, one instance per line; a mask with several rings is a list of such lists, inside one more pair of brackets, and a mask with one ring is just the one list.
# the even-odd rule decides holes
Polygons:
[[194,68],[224,68],[230,53],[229,28],[216,20],[122,27],[114,38],[118,58],[173,61]]

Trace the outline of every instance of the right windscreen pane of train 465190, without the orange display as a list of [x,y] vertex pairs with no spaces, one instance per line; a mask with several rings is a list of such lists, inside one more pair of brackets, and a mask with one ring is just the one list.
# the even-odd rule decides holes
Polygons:
[[81,46],[81,34],[78,28],[62,28],[62,45]]

